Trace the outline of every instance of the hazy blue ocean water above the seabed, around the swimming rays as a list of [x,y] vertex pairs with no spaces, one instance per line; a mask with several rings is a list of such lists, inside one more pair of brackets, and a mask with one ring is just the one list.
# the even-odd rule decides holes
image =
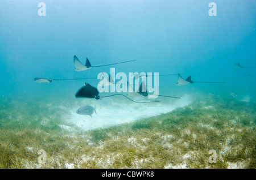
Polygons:
[[[177,76],[159,77],[159,92],[242,92],[255,95],[255,68],[232,71],[234,63],[255,67],[255,1],[41,1],[0,2],[1,96],[75,94],[84,80],[35,83],[34,78],[96,77],[110,67],[75,71],[73,55],[116,72],[180,73],[195,81],[177,87]],[[240,72],[240,73],[238,73]],[[243,76],[248,75],[251,76]],[[97,85],[95,80],[88,83]]]

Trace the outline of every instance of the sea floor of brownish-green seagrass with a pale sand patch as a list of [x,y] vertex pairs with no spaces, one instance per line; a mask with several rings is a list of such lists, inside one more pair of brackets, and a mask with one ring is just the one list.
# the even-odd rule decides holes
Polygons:
[[[76,114],[84,105],[96,105],[97,114]],[[196,94],[158,104],[105,98],[1,106],[0,168],[256,168],[251,101]]]

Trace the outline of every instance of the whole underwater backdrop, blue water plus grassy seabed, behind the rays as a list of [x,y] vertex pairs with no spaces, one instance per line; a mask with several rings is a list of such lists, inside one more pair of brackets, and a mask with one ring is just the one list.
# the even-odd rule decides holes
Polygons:
[[[46,5],[39,16],[38,4]],[[210,2],[217,16],[210,16]],[[0,168],[255,168],[256,2],[0,2]],[[73,57],[92,66],[75,71]],[[239,62],[240,68],[233,70]],[[100,72],[159,72],[158,103],[76,98]],[[108,93],[106,93],[108,95]],[[137,101],[147,101],[141,97]],[[97,114],[80,115],[96,105]],[[39,163],[44,149],[47,162]],[[217,162],[209,162],[209,151]]]

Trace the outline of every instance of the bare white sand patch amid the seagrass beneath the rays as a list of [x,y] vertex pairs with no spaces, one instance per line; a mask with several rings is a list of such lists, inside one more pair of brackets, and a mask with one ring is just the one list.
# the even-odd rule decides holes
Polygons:
[[[144,97],[135,99],[136,101],[148,101]],[[149,101],[161,101],[156,103],[138,104],[127,100],[125,97],[108,97],[101,100],[90,98],[80,98],[72,108],[66,108],[71,111],[71,116],[65,121],[81,128],[81,130],[92,130],[95,128],[104,128],[122,123],[133,122],[137,119],[152,117],[163,113],[171,112],[176,108],[189,105],[191,102],[188,95],[175,98],[158,98]],[[96,105],[96,113],[92,117],[89,115],[76,114],[76,110],[81,106]]]

